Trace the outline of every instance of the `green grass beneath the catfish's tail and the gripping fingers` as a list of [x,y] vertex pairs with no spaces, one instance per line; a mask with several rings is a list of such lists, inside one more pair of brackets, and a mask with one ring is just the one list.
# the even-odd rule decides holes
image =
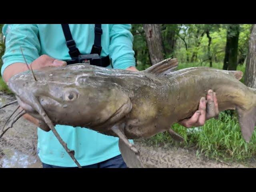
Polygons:
[[210,119],[204,126],[187,129],[180,124],[174,124],[172,129],[184,137],[184,142],[175,142],[167,132],[156,134],[145,140],[155,146],[178,145],[197,150],[210,159],[243,161],[256,155],[256,131],[252,140],[246,143],[242,137],[236,117],[221,112],[219,119]]

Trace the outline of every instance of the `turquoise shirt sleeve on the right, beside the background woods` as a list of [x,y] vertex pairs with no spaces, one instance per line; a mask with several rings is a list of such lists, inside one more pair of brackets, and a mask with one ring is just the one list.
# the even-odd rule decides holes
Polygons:
[[131,24],[114,24],[110,31],[109,56],[113,68],[127,69],[135,66]]

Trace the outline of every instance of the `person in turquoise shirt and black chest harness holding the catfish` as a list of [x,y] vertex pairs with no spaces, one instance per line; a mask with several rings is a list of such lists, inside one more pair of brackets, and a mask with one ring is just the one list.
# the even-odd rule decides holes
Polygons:
[[[15,74],[28,70],[24,58],[33,70],[90,62],[107,68],[138,71],[130,29],[130,24],[5,24],[2,31],[6,37],[2,77],[8,82]],[[214,106],[218,114],[216,94],[212,90],[208,91],[206,98],[201,98],[198,111],[179,123],[187,128],[204,125],[206,105]],[[24,118],[39,126],[34,117],[25,114]],[[82,167],[126,168],[117,137],[64,125],[56,125],[56,130],[68,147],[76,151],[76,159]],[[44,168],[77,167],[52,131],[40,128],[38,156]]]

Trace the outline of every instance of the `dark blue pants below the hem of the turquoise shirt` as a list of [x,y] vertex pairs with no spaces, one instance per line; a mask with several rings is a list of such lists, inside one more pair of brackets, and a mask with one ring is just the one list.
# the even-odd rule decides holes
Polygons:
[[[43,164],[43,168],[68,168],[68,167],[48,165],[45,163],[42,163],[42,164]],[[78,168],[78,167],[74,167],[74,168]],[[116,157],[113,157],[111,159],[108,159],[108,160],[100,162],[100,163],[82,166],[82,168],[127,168],[127,166],[126,166],[122,156],[118,155]]]

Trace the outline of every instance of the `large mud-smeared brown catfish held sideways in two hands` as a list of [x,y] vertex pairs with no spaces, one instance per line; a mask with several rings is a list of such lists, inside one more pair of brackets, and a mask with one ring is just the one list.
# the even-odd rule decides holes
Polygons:
[[242,72],[208,67],[174,70],[177,65],[177,59],[167,59],[132,72],[72,64],[36,71],[37,81],[29,72],[17,74],[8,86],[19,105],[51,130],[63,124],[118,136],[129,167],[140,167],[141,161],[128,139],[148,138],[191,117],[209,89],[216,92],[219,111],[237,110],[242,135],[250,141],[256,90],[239,81]]

